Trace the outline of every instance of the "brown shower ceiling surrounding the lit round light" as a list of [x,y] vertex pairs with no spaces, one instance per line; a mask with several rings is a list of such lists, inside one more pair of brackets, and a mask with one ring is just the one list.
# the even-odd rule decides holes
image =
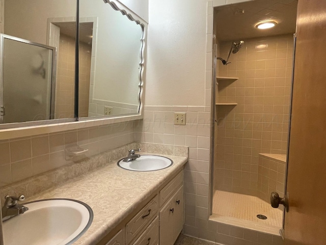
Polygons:
[[[295,33],[297,0],[255,0],[214,8],[214,24],[219,41],[237,41],[254,37]],[[278,24],[260,30],[263,21]]]

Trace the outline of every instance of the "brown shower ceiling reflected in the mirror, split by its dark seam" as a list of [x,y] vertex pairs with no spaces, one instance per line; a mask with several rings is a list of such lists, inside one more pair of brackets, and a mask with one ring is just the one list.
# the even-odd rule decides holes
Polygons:
[[[56,26],[60,27],[60,33],[68,37],[75,38],[76,22],[56,22]],[[87,44],[92,44],[93,22],[79,23],[79,40]]]

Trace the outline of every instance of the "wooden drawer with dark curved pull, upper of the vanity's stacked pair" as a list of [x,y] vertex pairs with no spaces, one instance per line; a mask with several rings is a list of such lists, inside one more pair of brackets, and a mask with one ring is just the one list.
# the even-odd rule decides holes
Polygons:
[[157,195],[136,214],[126,225],[126,244],[129,244],[135,237],[143,232],[158,212]]

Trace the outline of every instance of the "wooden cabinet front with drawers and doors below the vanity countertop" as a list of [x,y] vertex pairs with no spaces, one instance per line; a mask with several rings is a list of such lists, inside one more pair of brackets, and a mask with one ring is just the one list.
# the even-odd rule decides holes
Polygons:
[[184,223],[183,169],[154,194],[137,214],[117,226],[120,230],[113,238],[109,234],[98,245],[173,245]]

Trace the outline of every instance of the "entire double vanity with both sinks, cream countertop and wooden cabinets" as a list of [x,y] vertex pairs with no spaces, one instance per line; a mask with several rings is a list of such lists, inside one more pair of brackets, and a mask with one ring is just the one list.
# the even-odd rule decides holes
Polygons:
[[[103,164],[32,197],[26,194],[22,205],[30,210],[4,222],[5,244],[16,244],[22,238],[29,244],[173,245],[184,223],[183,169],[187,148],[145,143],[142,146],[145,152],[125,163],[139,168],[144,157],[147,164],[143,166],[158,163],[157,168],[162,169],[127,170],[119,166],[117,162],[126,159],[124,150],[131,147],[127,145],[55,170],[57,175],[68,175],[72,169],[82,173],[86,164]],[[157,151],[159,148],[161,151]],[[105,163],[109,155],[112,160]],[[168,166],[160,165],[169,161]],[[24,183],[17,188],[4,188],[1,194],[21,194],[18,191],[23,191],[22,186]],[[21,229],[26,225],[28,229]]]

